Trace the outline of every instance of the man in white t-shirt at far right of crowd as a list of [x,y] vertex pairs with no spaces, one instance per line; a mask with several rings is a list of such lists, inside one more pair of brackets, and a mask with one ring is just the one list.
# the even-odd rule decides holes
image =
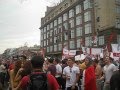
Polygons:
[[101,80],[104,79],[104,87],[103,90],[110,90],[110,78],[113,75],[114,71],[116,71],[116,66],[111,63],[111,57],[105,57],[105,66],[103,67],[103,76]]

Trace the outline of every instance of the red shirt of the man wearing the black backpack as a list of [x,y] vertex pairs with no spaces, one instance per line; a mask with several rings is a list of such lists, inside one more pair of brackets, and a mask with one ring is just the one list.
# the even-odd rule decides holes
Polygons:
[[[58,90],[59,89],[59,84],[56,81],[55,77],[51,74],[47,74],[48,78],[48,84],[50,85],[50,90]],[[24,89],[26,88],[28,82],[30,81],[29,76],[24,76],[21,80],[21,88]]]

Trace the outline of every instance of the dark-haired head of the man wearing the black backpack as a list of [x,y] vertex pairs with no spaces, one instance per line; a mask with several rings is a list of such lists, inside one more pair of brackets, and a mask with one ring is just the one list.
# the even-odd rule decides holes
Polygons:
[[34,56],[31,59],[31,64],[33,69],[42,68],[44,63],[44,58],[42,56]]

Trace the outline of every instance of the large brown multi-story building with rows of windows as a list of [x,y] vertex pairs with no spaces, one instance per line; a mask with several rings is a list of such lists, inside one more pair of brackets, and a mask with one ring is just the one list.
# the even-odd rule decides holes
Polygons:
[[[63,0],[41,19],[41,46],[47,55],[120,42],[120,0]],[[94,37],[97,36],[96,43]]]

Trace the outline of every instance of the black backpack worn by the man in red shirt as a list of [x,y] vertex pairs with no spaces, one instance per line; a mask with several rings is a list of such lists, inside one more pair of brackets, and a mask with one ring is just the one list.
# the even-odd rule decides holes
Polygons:
[[30,74],[26,90],[48,90],[48,81],[46,73]]

